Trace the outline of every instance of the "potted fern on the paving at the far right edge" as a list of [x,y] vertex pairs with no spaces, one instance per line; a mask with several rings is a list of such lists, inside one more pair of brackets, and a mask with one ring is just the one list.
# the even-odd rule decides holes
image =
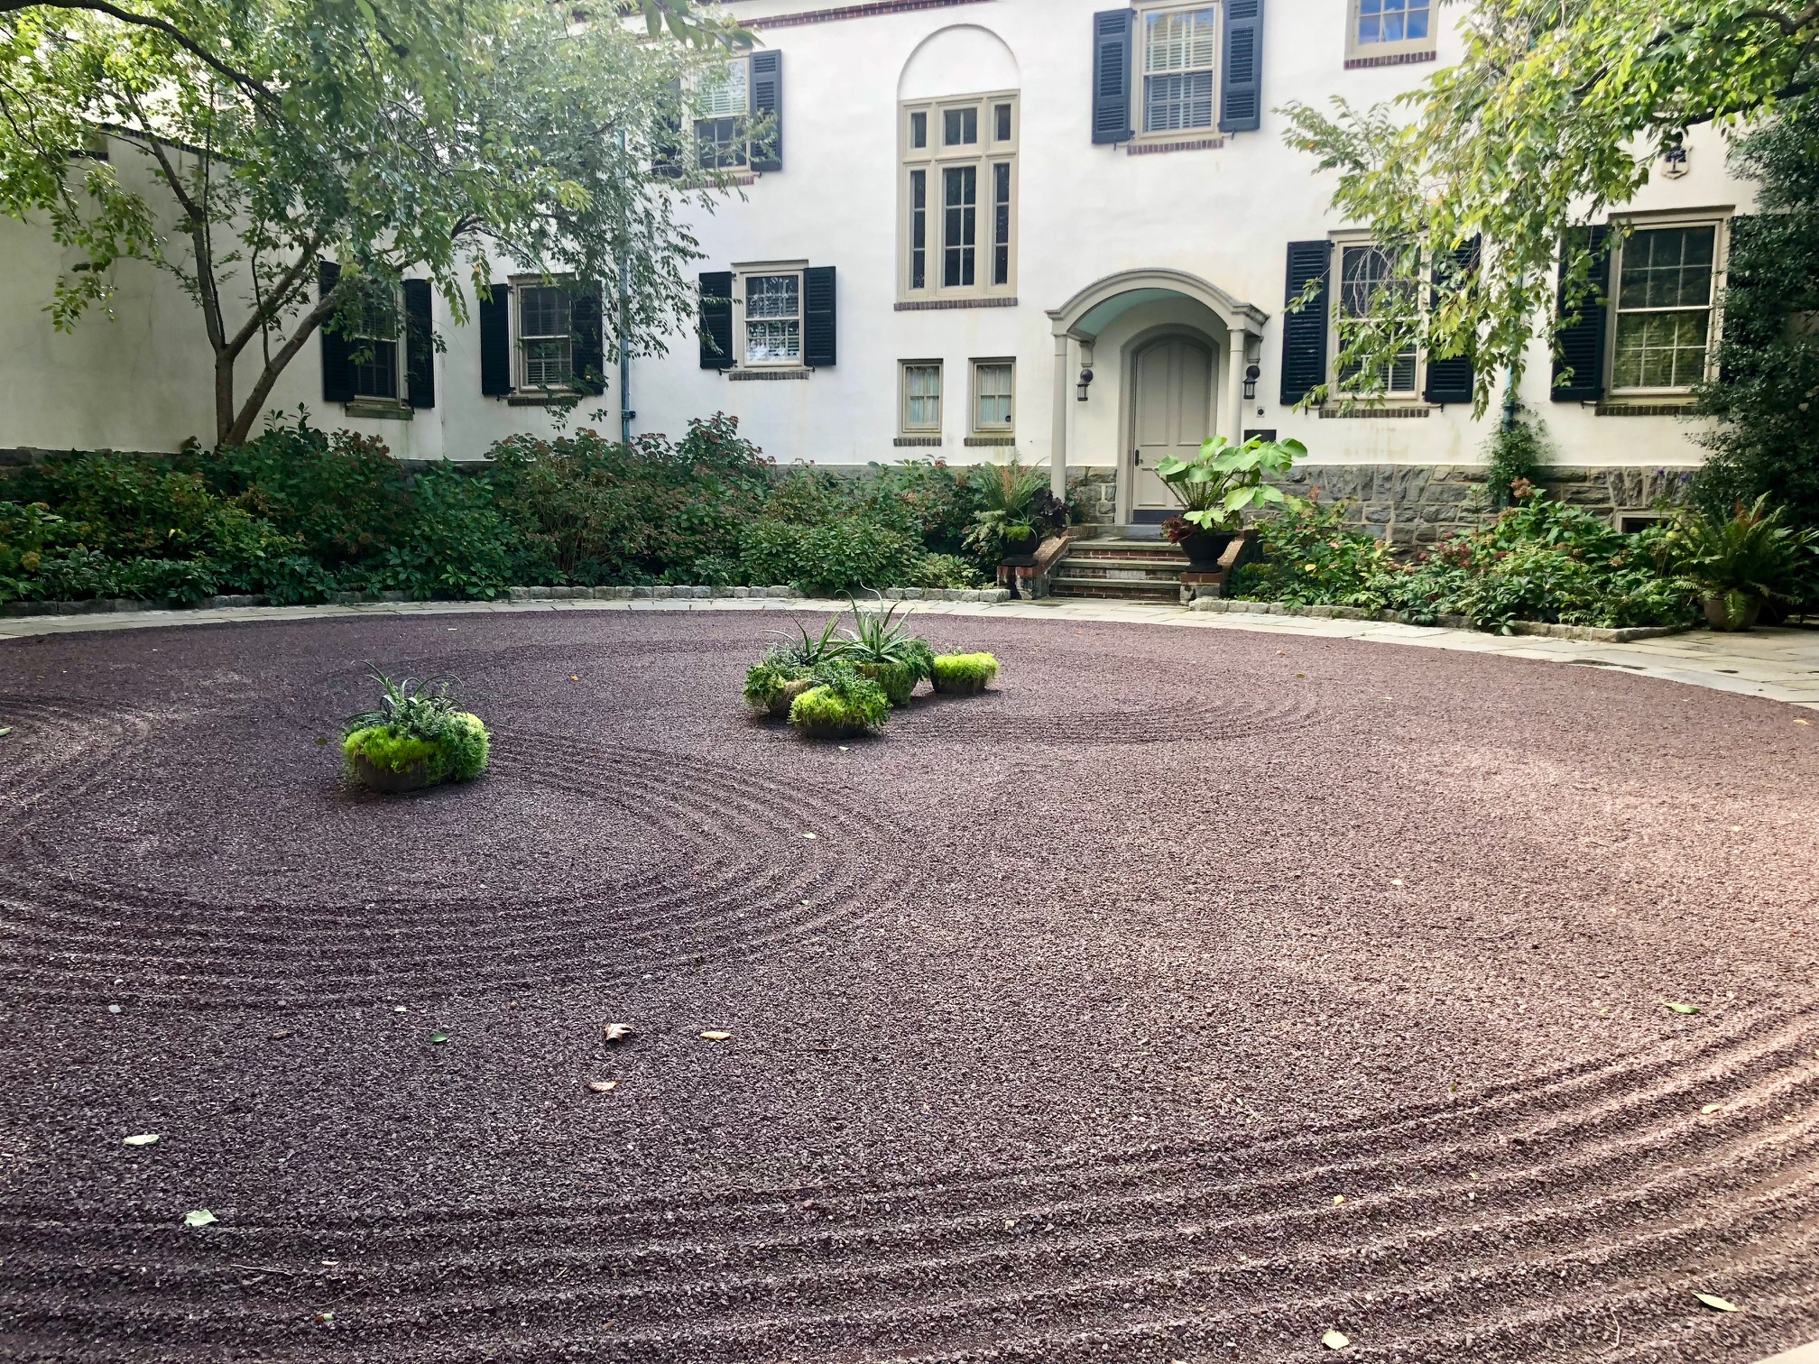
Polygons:
[[1803,598],[1819,573],[1819,533],[1795,529],[1768,495],[1728,520],[1681,515],[1663,540],[1661,566],[1692,578],[1713,629],[1750,629],[1768,602]]

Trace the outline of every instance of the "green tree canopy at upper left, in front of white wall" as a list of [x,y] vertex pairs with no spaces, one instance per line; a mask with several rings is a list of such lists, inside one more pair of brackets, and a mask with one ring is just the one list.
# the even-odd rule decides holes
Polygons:
[[[689,45],[640,40],[628,9]],[[107,306],[122,260],[176,276],[220,444],[318,327],[358,335],[407,273],[457,318],[489,258],[624,286],[609,346],[651,351],[695,309],[678,209],[702,186],[651,176],[649,149],[677,82],[740,38],[688,0],[598,24],[537,0],[0,0],[0,211],[80,256],[51,293],[60,329]],[[73,156],[98,131],[131,153]]]

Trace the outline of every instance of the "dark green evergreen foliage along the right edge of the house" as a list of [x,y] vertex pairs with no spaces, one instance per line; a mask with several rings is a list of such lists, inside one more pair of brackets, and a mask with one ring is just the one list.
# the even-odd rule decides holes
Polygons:
[[1761,184],[1759,211],[1732,224],[1723,378],[1699,391],[1723,424],[1693,493],[1717,515],[1766,493],[1819,526],[1819,105],[1752,133],[1737,162]]

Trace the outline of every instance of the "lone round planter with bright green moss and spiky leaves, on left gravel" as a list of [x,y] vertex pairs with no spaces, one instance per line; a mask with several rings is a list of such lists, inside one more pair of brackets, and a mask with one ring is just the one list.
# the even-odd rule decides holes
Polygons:
[[415,791],[438,782],[467,782],[486,771],[493,737],[478,715],[458,709],[444,678],[393,682],[377,667],[377,709],[342,726],[347,771],[373,791]]

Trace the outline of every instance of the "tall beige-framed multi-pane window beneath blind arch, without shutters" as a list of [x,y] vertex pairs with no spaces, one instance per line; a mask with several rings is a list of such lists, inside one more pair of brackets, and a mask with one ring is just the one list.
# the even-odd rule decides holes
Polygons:
[[1017,96],[902,116],[899,296],[1010,296],[1017,280]]

